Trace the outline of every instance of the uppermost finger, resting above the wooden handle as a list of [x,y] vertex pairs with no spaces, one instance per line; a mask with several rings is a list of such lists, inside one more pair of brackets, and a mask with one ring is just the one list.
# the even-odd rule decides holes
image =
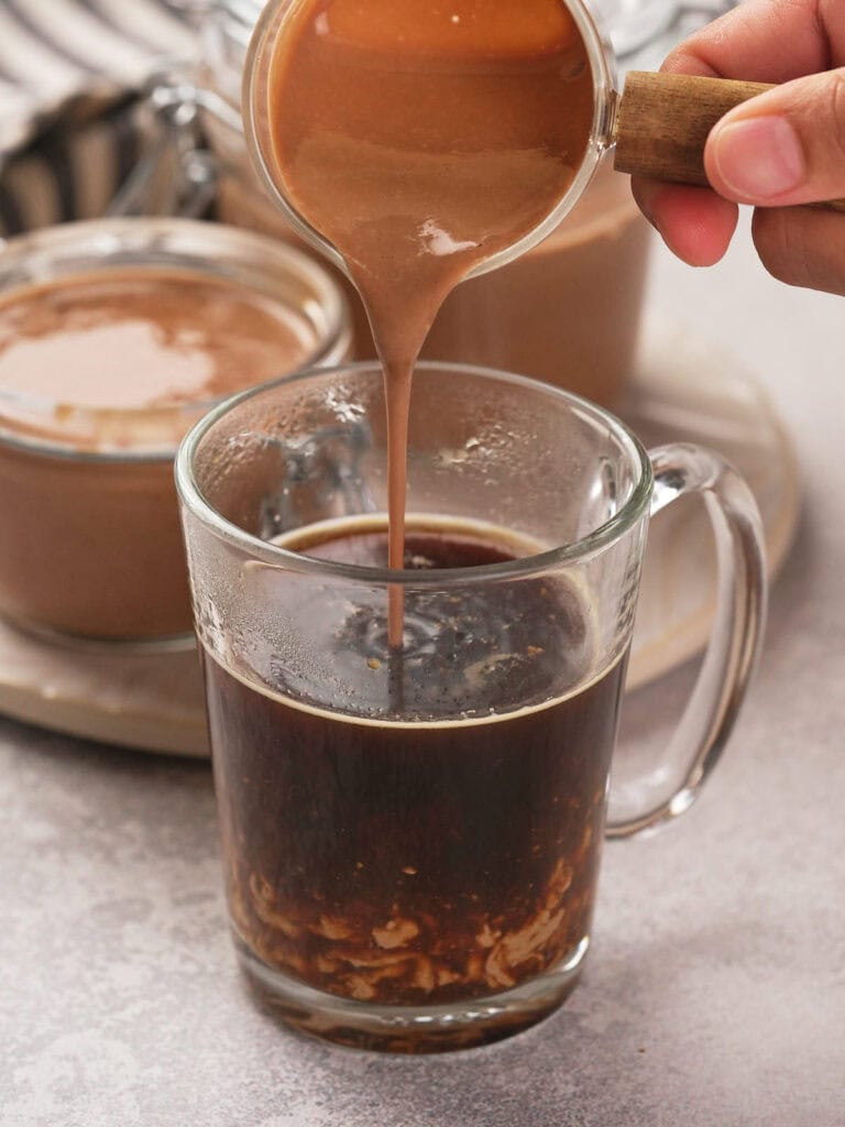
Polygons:
[[747,0],[685,39],[661,70],[780,83],[843,64],[842,0]]

